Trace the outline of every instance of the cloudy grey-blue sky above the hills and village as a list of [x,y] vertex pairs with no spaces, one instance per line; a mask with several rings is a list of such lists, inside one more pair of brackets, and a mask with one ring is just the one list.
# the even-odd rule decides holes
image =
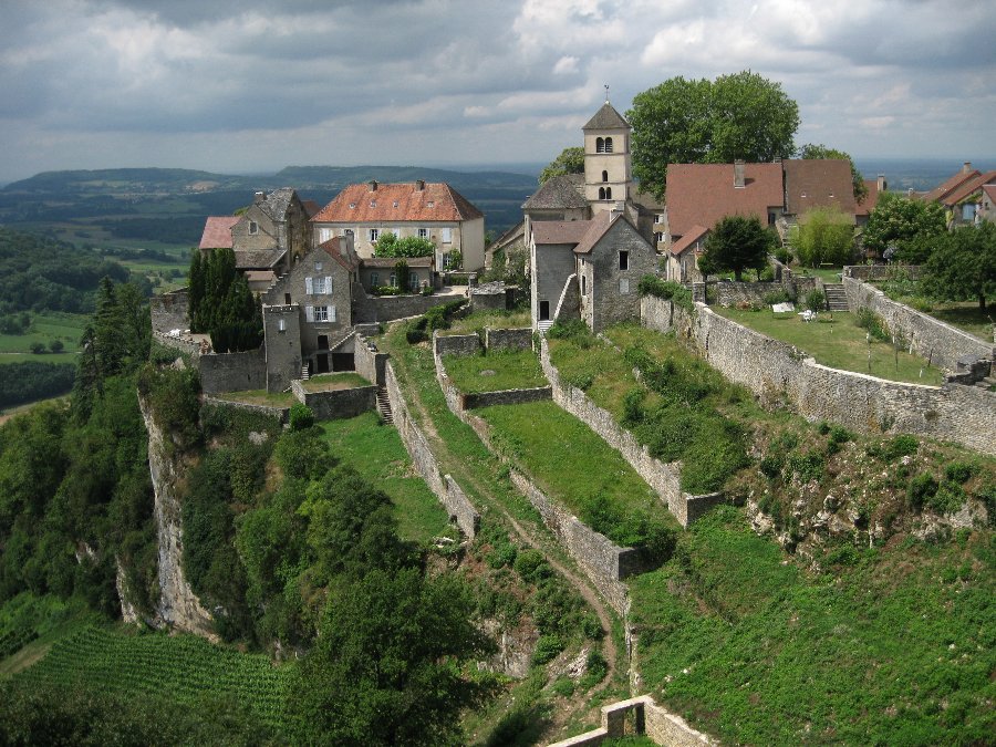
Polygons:
[[605,98],[751,70],[796,142],[996,159],[996,0],[3,0],[0,183],[543,164]]

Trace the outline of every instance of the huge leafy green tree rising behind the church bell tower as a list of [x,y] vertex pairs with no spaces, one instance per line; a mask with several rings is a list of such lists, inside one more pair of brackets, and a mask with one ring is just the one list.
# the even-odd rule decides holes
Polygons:
[[668,164],[769,162],[795,153],[799,106],[781,84],[749,70],[715,81],[672,77],[636,94],[633,174],[663,198]]

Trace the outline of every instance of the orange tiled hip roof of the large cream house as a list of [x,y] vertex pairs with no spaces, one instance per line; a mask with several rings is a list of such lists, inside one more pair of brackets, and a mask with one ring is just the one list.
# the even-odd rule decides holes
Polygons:
[[[422,189],[418,184],[424,184]],[[314,222],[430,222],[484,217],[470,201],[445,183],[351,184],[312,217]]]

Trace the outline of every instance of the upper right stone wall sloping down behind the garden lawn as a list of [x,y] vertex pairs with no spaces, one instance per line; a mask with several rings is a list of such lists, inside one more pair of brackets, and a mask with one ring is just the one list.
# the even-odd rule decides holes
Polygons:
[[874,286],[853,278],[844,278],[843,286],[848,294],[848,308],[852,312],[868,309],[880,317],[890,332],[901,335],[906,341],[906,346],[912,352],[922,355],[936,366],[955,371],[958,367],[958,359],[964,355],[974,355],[990,362],[994,360],[992,343],[983,342],[951,324],[892,301]]

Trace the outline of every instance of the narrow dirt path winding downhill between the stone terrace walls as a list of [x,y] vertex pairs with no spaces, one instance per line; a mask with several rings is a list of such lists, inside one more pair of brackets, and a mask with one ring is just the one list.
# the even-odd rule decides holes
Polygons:
[[[447,447],[446,442],[439,436],[439,433],[436,430],[432,417],[429,416],[428,411],[422,402],[422,398],[418,396],[417,392],[413,392],[412,387],[408,387],[406,395],[409,397],[409,406],[414,407],[418,414],[419,426],[423,428],[423,432],[433,444],[433,453],[436,455],[439,454],[449,454],[449,449]],[[438,456],[437,456],[438,460]],[[456,459],[448,459],[452,464],[457,464]],[[615,645],[615,640],[612,637],[612,615],[609,612],[609,609],[605,602],[602,601],[602,598],[599,596],[598,592],[591,587],[590,582],[567,568],[563,563],[561,563],[546,547],[546,542],[540,539],[533,531],[523,527],[519,521],[511,516],[511,513],[506,510],[506,508],[501,505],[501,502],[495,497],[491,492],[490,486],[483,484],[479,479],[476,479],[475,476],[467,474],[463,469],[453,470],[458,471],[459,474],[455,477],[458,477],[458,481],[467,483],[473,485],[474,488],[488,497],[491,506],[496,508],[508,521],[509,526],[516,532],[516,535],[527,544],[530,544],[537,548],[546,559],[548,563],[564,579],[567,579],[568,583],[570,583],[579,594],[584,599],[585,602],[594,610],[595,614],[599,618],[599,622],[602,625],[602,630],[605,631],[605,636],[602,640],[603,642],[603,655],[605,657],[605,662],[609,666],[609,673],[604,679],[596,686],[593,687],[588,693],[588,697],[594,695],[600,692],[602,688],[609,685],[612,682],[619,665],[619,650]]]

